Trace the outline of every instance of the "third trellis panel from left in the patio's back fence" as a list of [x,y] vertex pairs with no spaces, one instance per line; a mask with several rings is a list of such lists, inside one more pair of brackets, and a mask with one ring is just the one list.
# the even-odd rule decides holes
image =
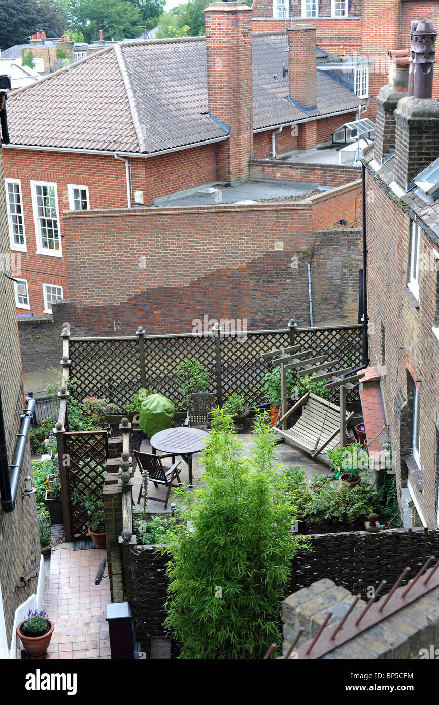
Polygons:
[[263,377],[273,369],[270,360],[263,360],[261,353],[274,348],[287,348],[288,331],[247,333],[246,338],[224,336],[221,338],[222,398],[232,392],[242,394],[247,404],[266,402]]

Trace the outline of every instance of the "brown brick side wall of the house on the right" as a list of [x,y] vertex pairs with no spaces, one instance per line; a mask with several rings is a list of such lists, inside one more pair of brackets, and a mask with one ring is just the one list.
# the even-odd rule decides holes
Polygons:
[[[410,476],[411,486],[429,526],[436,523],[438,508],[439,429],[439,341],[431,327],[437,315],[438,272],[431,266],[421,269],[419,309],[407,295],[411,221],[366,173],[366,189],[373,207],[366,210],[368,247],[368,315],[371,364],[381,364],[380,327],[385,326],[385,371],[381,389],[385,402],[390,439],[395,450],[399,501],[407,468],[402,456],[411,453],[412,384],[407,388],[407,372],[419,390],[420,403],[420,476]],[[368,201],[369,202],[369,201]],[[423,262],[431,262],[433,245],[426,235],[421,238]],[[402,393],[406,407],[399,414],[397,395]],[[420,482],[421,491],[416,489]]]

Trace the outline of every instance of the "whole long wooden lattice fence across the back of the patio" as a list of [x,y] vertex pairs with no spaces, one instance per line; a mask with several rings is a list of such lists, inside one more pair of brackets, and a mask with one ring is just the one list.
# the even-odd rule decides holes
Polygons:
[[[263,360],[261,353],[301,344],[314,355],[336,357],[335,370],[355,368],[363,363],[362,332],[361,325],[352,325],[246,331],[245,336],[141,333],[129,338],[70,338],[72,393],[80,402],[88,396],[107,398],[124,412],[124,406],[143,386],[164,394],[182,409],[177,366],[185,360],[198,360],[210,374],[209,391],[216,393],[219,404],[234,391],[252,405],[262,404],[266,401],[263,376],[272,369],[272,362]],[[358,385],[347,390],[347,400],[359,400]]]

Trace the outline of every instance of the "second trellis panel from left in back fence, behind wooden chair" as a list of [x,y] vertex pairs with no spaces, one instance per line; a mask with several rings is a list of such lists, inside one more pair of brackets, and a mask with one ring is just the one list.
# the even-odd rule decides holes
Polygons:
[[210,374],[210,387],[216,392],[215,339],[212,336],[145,337],[145,371],[148,388],[169,397],[176,408],[184,407],[181,379],[176,377],[179,362],[198,360]]

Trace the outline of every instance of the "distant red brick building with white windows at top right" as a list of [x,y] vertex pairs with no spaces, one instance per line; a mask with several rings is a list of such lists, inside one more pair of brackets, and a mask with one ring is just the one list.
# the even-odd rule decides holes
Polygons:
[[[439,3],[435,0],[253,0],[252,31],[284,31],[306,20],[317,29],[317,43],[330,54],[344,47],[346,54],[366,56],[369,61],[368,118],[375,118],[375,98],[387,82],[387,51],[409,48],[410,22],[432,20],[439,26]],[[356,71],[363,71],[358,66]],[[439,72],[438,72],[439,73]],[[433,97],[439,97],[436,73]],[[359,76],[359,79],[361,77]]]

